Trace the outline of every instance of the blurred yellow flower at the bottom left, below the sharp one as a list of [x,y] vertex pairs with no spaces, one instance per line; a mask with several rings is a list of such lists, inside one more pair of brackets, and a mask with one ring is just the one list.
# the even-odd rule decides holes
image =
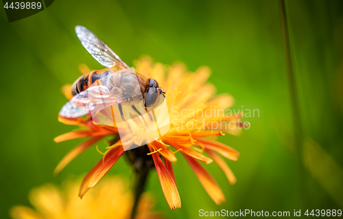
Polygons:
[[[32,189],[29,202],[35,208],[15,206],[10,209],[13,219],[108,219],[130,218],[133,197],[128,182],[118,176],[104,178],[88,196],[78,198],[80,181],[66,181],[62,189],[47,184]],[[161,218],[152,214],[154,198],[149,193],[141,196],[135,218]]]

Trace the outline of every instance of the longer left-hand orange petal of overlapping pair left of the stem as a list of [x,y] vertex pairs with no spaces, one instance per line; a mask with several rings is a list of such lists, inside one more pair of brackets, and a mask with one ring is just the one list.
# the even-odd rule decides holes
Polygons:
[[[109,159],[111,159],[113,156],[113,154],[117,154],[116,152],[123,152],[123,147],[118,146],[116,148],[113,148],[110,150],[110,152],[108,152],[108,154],[106,154],[106,157],[104,159],[104,163],[106,161],[108,161]],[[120,156],[119,156],[120,157]],[[92,168],[92,170],[90,172],[88,172],[88,174],[86,175],[86,177],[84,177],[84,180],[81,183],[80,186],[80,192],[79,192],[79,196],[80,198],[82,198],[84,196],[84,194],[86,194],[86,192],[88,191],[89,187],[89,183],[91,182],[91,180],[93,179],[93,176],[95,175],[95,173],[97,172],[97,170],[99,170],[99,168],[102,167],[102,165],[104,165],[103,163],[103,159],[101,159],[99,162],[97,162],[97,164]],[[114,163],[113,163],[114,164]]]

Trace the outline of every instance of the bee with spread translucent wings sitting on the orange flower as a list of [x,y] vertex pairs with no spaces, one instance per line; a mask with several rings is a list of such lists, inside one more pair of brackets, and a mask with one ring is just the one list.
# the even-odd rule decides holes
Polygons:
[[140,102],[147,108],[156,106],[165,92],[153,78],[145,78],[133,71],[99,37],[86,27],[76,26],[75,32],[84,48],[106,69],[95,70],[76,80],[71,93],[73,98],[60,110],[61,117],[81,117],[94,109],[101,111],[106,106],[117,105],[124,120],[122,105],[134,106]]

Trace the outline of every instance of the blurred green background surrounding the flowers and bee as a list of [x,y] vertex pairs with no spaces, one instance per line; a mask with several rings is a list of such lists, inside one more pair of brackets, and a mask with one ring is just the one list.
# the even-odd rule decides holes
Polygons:
[[[343,208],[343,1],[288,1],[304,143],[297,154],[278,1],[55,1],[26,19],[8,23],[0,10],[1,147],[0,218],[13,205],[28,205],[29,189],[61,183],[91,170],[95,148],[62,174],[57,163],[80,139],[54,143],[74,126],[57,121],[67,101],[60,89],[80,76],[78,65],[102,69],[82,47],[75,25],[84,25],[128,65],[142,54],[156,62],[181,60],[190,71],[213,70],[218,93],[235,97],[233,108],[259,109],[239,136],[220,141],[241,153],[227,161],[237,176],[228,182],[215,163],[206,165],[224,190],[215,205],[180,156],[174,165],[182,207],[171,211],[156,172],[148,190],[169,218],[198,218],[199,209],[294,211]],[[132,177],[126,159],[108,174]],[[77,194],[75,194],[77,195]]]

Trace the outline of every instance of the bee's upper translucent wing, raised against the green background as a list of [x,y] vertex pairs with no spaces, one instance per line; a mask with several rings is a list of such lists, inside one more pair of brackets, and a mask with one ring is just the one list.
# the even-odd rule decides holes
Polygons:
[[78,35],[82,45],[101,65],[113,67],[117,65],[122,69],[128,69],[128,65],[115,54],[108,45],[86,27],[76,26],[75,32]]

